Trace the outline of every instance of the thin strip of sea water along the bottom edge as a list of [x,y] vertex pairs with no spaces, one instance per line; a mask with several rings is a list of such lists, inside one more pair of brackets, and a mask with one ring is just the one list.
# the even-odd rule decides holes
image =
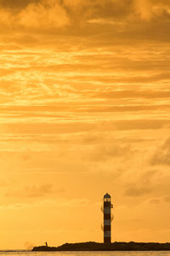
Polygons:
[[0,256],[170,256],[167,252],[0,252]]

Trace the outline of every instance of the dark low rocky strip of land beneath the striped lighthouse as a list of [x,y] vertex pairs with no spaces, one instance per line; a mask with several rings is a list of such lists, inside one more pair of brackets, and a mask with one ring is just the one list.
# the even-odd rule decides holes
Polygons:
[[170,251],[170,243],[115,241],[111,244],[105,244],[88,241],[79,243],[65,243],[59,247],[33,247],[32,251]]

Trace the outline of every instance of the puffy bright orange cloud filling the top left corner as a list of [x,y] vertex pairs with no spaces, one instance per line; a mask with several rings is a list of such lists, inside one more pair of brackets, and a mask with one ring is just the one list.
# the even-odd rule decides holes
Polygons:
[[18,2],[18,5],[16,4],[19,9],[17,12],[12,9],[11,2],[3,4],[3,8],[0,8],[0,22],[3,26],[20,30],[23,27],[47,30],[69,24],[69,17],[65,9],[59,5],[59,1],[27,1],[27,4],[21,4],[20,2]]

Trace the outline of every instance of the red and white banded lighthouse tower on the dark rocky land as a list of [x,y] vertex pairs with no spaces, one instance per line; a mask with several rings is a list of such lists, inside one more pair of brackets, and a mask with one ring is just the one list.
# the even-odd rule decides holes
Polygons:
[[104,243],[111,243],[111,221],[113,216],[111,215],[111,208],[113,208],[111,204],[111,195],[108,193],[104,195]]

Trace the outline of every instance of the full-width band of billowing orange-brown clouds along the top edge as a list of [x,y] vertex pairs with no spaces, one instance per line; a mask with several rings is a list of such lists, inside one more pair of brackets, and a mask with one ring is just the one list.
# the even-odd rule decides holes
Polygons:
[[[82,26],[89,20],[151,20],[168,17],[170,3],[157,0],[26,0],[0,2],[1,23],[10,27],[47,31],[65,26]],[[166,19],[166,18],[165,18]],[[89,24],[89,23],[88,23]],[[106,21],[107,24],[107,21]],[[111,25],[115,25],[111,22]]]

